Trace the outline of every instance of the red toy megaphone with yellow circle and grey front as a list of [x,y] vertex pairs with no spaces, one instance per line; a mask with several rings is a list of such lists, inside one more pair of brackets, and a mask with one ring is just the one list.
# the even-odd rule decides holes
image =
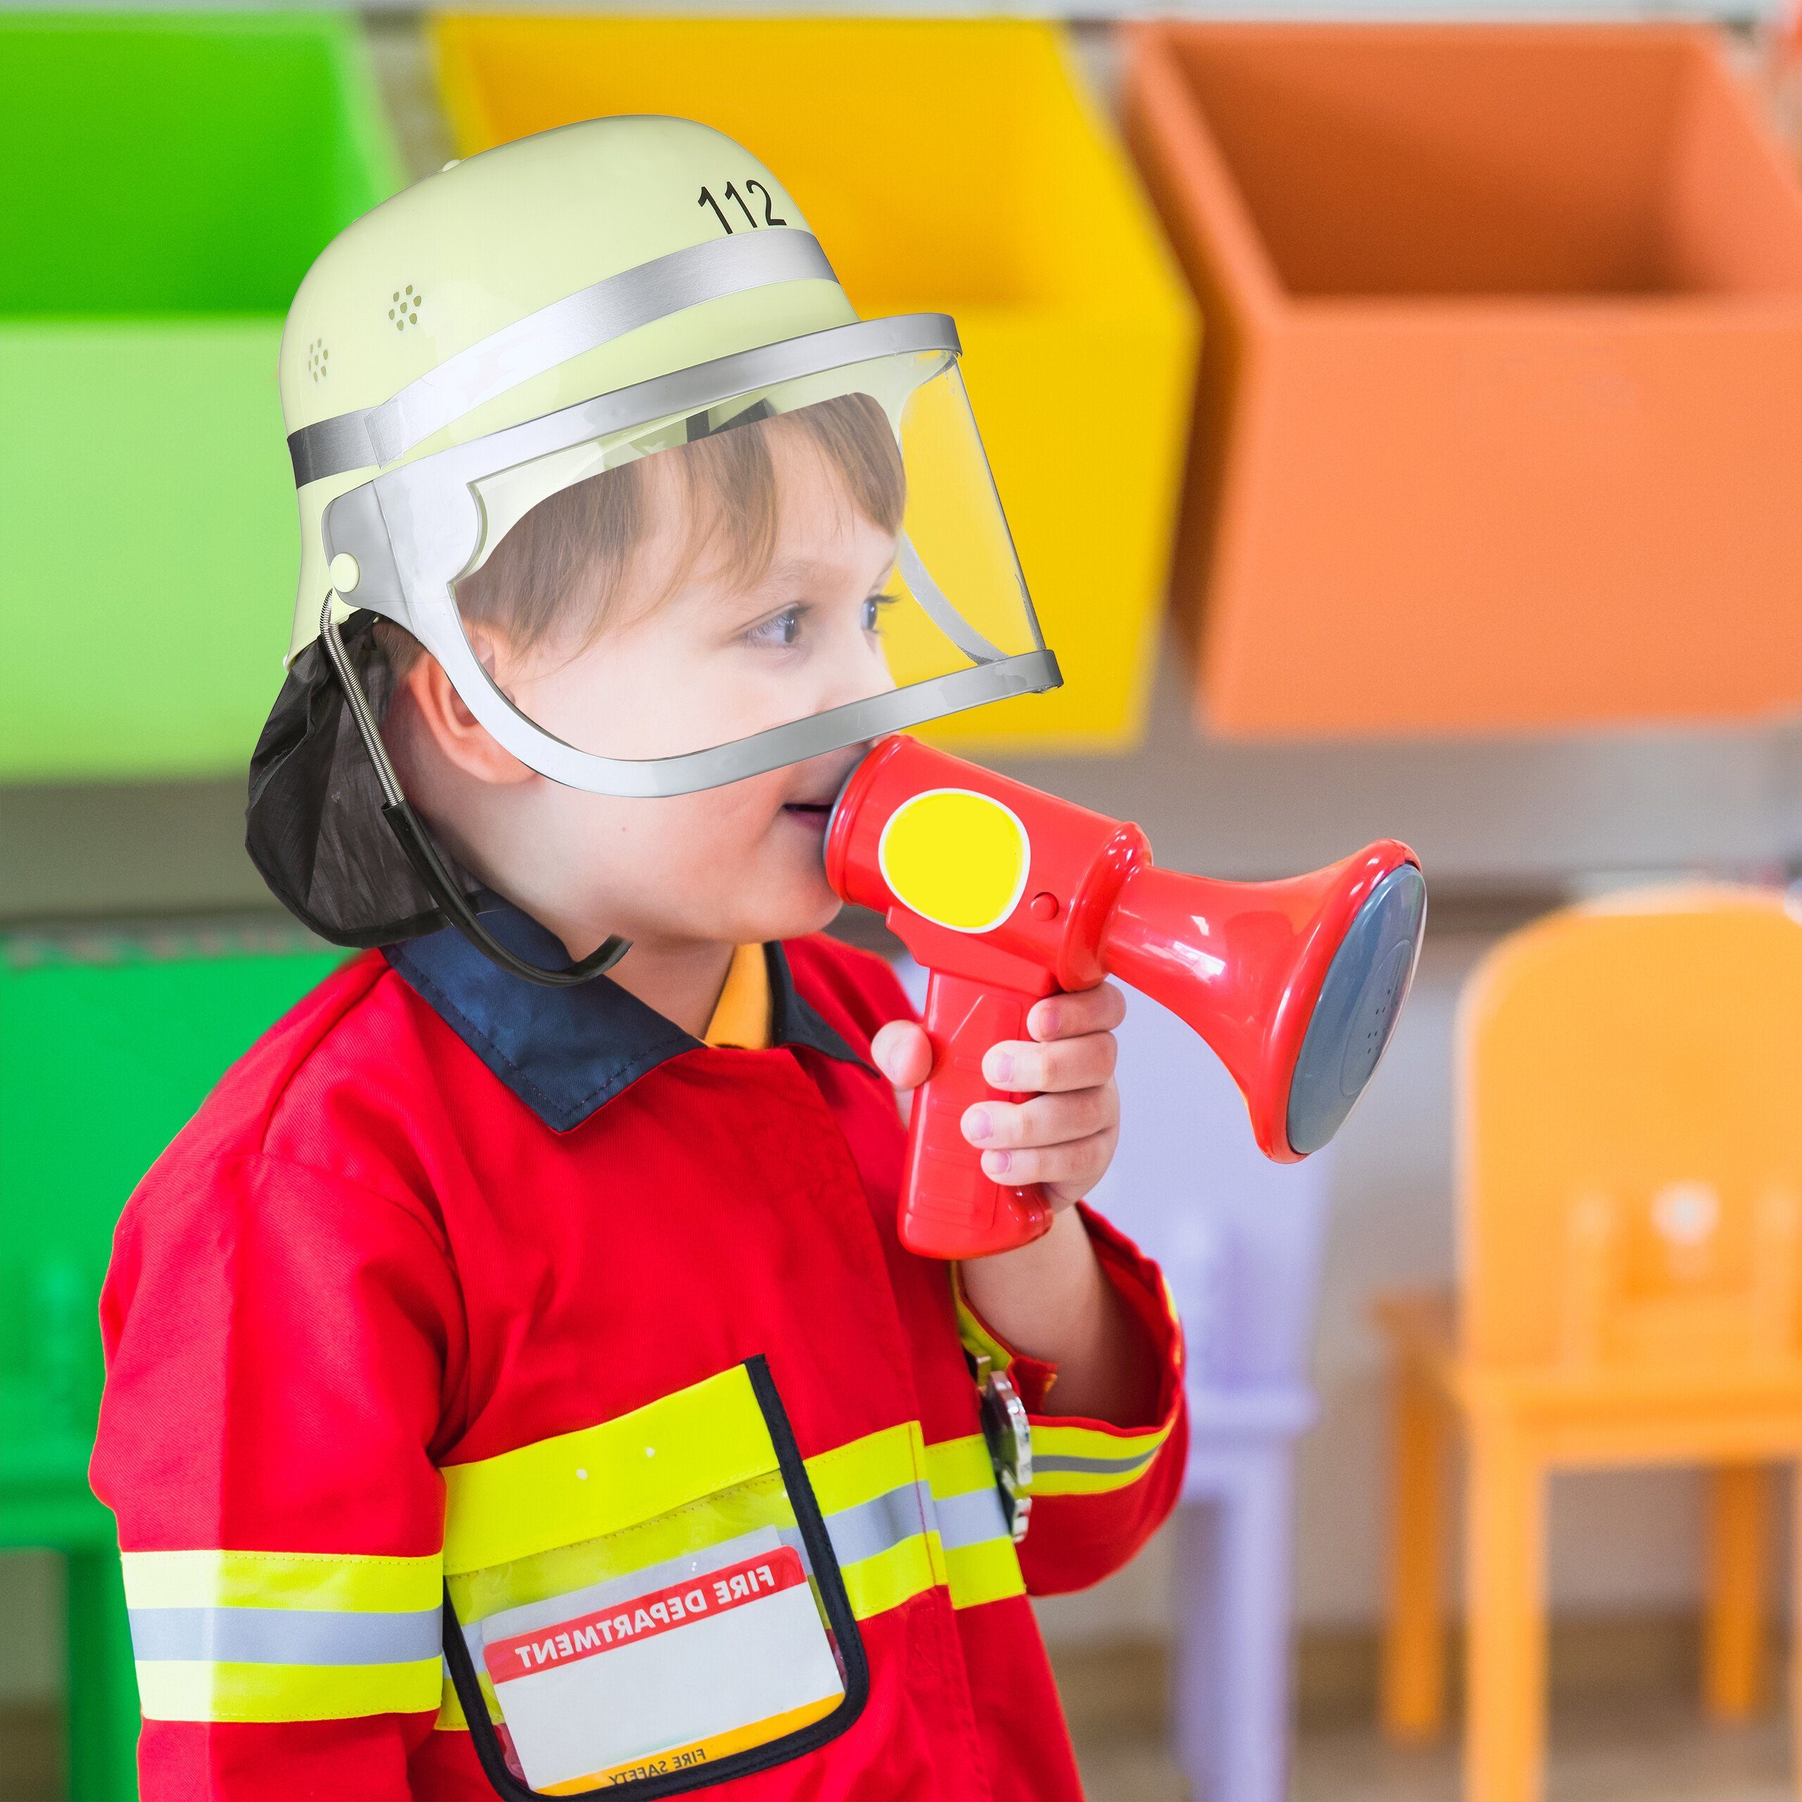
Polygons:
[[930,971],[932,1074],[914,1096],[901,1240],[982,1258],[1038,1238],[1036,1184],[982,1171],[964,1139],[991,1088],[982,1056],[1025,1038],[1027,1009],[1103,977],[1162,1002],[1213,1045],[1267,1157],[1317,1151],[1395,1029],[1425,924],[1407,845],[1382,838],[1312,876],[1222,883],[1151,863],[1137,825],[1009,782],[917,739],[881,739],[851,771],[825,836],[845,901],[885,914]]

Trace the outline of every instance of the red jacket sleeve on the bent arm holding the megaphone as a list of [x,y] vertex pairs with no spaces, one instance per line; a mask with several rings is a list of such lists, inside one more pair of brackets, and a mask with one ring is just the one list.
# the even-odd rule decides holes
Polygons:
[[953,1276],[964,1350],[1007,1371],[1031,1425],[1033,1479],[1025,1492],[1033,1512],[1020,1543],[1031,1595],[1085,1589],[1126,1564],[1177,1505],[1188,1463],[1182,1328],[1162,1272],[1097,1213],[1081,1202],[1078,1207],[1101,1269],[1144,1323],[1159,1364],[1157,1404],[1144,1425],[1045,1413],[1056,1366],[997,1337]]

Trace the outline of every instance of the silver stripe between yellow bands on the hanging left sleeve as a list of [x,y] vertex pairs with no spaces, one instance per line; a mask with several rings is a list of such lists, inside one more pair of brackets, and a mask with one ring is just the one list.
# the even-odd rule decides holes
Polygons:
[[402,1665],[440,1656],[443,1609],[133,1607],[132,1654],[231,1665]]

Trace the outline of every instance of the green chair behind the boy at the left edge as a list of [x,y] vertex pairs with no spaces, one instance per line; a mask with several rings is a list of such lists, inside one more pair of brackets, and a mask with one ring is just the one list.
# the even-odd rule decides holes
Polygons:
[[114,1224],[225,1067],[342,960],[288,926],[0,939],[0,1546],[67,1562],[74,1802],[135,1793],[117,1535],[86,1478]]

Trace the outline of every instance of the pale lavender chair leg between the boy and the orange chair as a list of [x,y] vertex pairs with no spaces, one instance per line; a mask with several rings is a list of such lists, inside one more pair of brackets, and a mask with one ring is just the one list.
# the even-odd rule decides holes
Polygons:
[[1288,1793],[1290,1445],[1247,1449],[1211,1506],[1186,1508],[1179,1757],[1195,1802]]

